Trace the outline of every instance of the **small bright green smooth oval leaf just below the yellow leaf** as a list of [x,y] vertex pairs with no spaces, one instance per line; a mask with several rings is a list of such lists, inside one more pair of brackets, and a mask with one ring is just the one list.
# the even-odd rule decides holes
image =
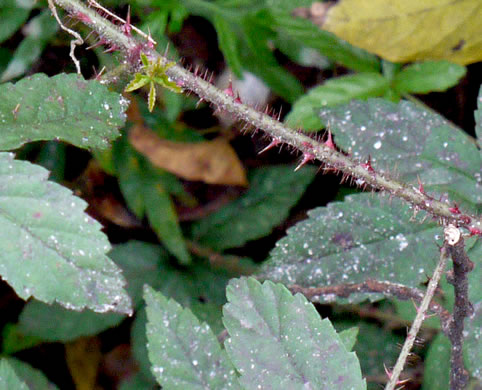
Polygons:
[[448,61],[411,64],[395,76],[393,88],[401,95],[442,92],[456,85],[466,72],[465,66]]

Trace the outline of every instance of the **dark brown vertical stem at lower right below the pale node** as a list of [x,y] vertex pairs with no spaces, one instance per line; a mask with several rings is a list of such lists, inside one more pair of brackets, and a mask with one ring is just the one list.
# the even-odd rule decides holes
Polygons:
[[465,252],[464,239],[450,247],[449,254],[454,264],[453,270],[447,274],[447,281],[454,286],[455,301],[453,318],[449,326],[449,340],[452,344],[450,354],[450,389],[461,390],[469,380],[469,374],[464,368],[463,342],[464,319],[473,313],[469,301],[469,281],[467,274],[473,270],[474,263]]

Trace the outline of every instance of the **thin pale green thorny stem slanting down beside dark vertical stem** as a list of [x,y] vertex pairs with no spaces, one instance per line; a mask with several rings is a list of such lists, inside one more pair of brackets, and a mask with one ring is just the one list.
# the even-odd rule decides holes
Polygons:
[[417,310],[417,315],[415,316],[415,320],[413,321],[412,327],[410,328],[407,338],[405,339],[405,343],[403,344],[402,351],[398,356],[397,363],[395,367],[393,367],[393,371],[389,375],[389,380],[387,385],[385,386],[385,390],[394,390],[395,386],[399,385],[399,378],[400,374],[403,371],[403,367],[405,366],[405,362],[410,354],[410,351],[413,347],[413,343],[417,337],[418,331],[422,326],[423,320],[426,318],[427,310],[429,308],[430,302],[435,294],[435,290],[437,289],[438,283],[440,278],[442,277],[445,264],[447,262],[447,244],[444,243],[444,246],[440,250],[440,260],[435,268],[432,278],[427,287],[427,291],[425,292],[425,296],[423,297],[422,303]]

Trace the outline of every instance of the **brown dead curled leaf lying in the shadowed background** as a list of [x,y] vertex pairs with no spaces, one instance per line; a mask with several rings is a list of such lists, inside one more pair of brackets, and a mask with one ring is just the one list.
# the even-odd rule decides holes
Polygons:
[[129,132],[129,141],[153,165],[183,179],[209,184],[248,185],[238,156],[222,138],[198,143],[173,142],[136,124]]

